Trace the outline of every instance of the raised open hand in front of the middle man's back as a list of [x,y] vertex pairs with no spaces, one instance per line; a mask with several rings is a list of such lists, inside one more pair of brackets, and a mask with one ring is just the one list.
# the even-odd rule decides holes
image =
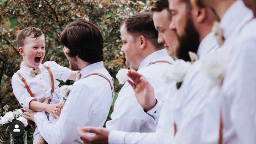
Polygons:
[[154,89],[151,84],[138,72],[128,71],[127,75],[133,80],[127,80],[133,87],[138,103],[144,110],[149,111],[156,105]]

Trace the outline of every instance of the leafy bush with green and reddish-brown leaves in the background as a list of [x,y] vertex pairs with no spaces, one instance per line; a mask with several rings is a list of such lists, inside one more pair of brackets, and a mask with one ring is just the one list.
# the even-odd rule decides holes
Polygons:
[[[19,30],[28,26],[43,30],[46,44],[43,62],[55,61],[69,67],[62,53],[60,33],[70,21],[91,21],[102,32],[104,66],[115,78],[120,68],[127,68],[124,65],[124,56],[120,54],[122,44],[119,26],[129,15],[150,11],[153,2],[148,0],[0,0],[0,107],[9,104],[11,110],[20,108],[11,87],[11,78],[22,62],[15,40]],[[114,81],[115,92],[118,92],[121,85],[116,79]],[[71,83],[72,81],[68,80],[66,83],[61,82],[61,85]],[[110,114],[112,111],[113,106]],[[31,143],[31,133],[28,134],[29,143]],[[4,136],[2,143],[8,143],[8,136]]]

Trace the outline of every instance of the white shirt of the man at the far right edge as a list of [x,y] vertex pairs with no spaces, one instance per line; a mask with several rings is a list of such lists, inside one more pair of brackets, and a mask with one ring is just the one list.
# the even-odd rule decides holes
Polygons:
[[247,20],[230,42],[234,48],[221,89],[223,143],[256,143],[255,31],[256,20]]

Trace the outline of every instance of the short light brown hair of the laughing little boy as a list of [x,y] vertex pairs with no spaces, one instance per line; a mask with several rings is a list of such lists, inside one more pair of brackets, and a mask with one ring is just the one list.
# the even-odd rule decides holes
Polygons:
[[23,47],[24,45],[24,40],[26,37],[30,36],[33,34],[32,38],[39,38],[40,36],[44,35],[42,30],[35,28],[35,27],[27,27],[23,30],[20,30],[17,37],[16,37],[16,41],[17,41],[17,47]]

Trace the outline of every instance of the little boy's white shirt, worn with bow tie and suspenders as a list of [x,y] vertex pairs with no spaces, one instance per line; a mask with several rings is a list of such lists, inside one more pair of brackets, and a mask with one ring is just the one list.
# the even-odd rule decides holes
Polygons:
[[[54,94],[51,95],[52,82],[49,71],[45,66],[49,66],[54,78]],[[51,104],[56,104],[60,102],[62,98],[59,90],[60,82],[56,79],[66,81],[71,74],[71,70],[56,64],[55,62],[45,62],[39,65],[41,74],[35,75],[34,77],[30,76],[30,70],[33,68],[25,67],[23,62],[20,64],[20,70],[18,72],[25,78],[26,83],[28,84],[31,92],[34,97],[31,97],[28,93],[25,84],[20,80],[20,77],[15,73],[12,77],[12,88],[15,97],[18,99],[21,106],[29,110],[29,103],[31,100],[43,102],[45,98],[51,99]]]

